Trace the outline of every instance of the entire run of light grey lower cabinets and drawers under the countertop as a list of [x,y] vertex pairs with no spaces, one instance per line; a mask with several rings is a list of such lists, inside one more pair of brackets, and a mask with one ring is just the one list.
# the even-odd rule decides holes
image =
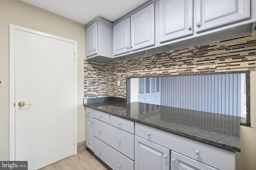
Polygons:
[[114,170],[236,170],[236,152],[89,110],[86,146]]

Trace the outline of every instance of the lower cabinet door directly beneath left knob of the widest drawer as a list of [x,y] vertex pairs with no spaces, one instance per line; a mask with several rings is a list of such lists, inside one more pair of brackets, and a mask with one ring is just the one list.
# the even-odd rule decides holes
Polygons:
[[135,170],[170,170],[170,150],[138,136],[134,137]]

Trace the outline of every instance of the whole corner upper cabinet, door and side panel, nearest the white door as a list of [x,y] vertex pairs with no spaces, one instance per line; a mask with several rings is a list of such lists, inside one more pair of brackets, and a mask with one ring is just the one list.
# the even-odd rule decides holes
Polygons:
[[85,27],[86,59],[96,56],[113,57],[113,25],[101,18]]

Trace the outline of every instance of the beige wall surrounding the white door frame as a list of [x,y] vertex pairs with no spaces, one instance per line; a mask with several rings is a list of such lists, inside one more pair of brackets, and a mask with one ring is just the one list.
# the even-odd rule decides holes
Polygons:
[[78,142],[84,141],[84,25],[20,0],[0,0],[0,78],[6,80],[0,87],[0,160],[9,160],[9,23],[78,42]]

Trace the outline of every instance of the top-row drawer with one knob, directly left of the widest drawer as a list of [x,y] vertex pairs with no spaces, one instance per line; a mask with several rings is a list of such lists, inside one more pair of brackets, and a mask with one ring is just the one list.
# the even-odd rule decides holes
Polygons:
[[110,115],[110,124],[134,134],[134,121],[124,119],[115,115]]

